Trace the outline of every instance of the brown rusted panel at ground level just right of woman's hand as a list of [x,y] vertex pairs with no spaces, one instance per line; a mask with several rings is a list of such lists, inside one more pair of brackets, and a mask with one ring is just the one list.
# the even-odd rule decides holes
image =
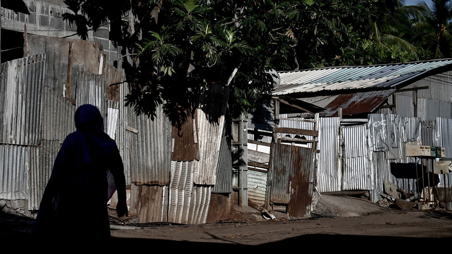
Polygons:
[[161,221],[164,186],[132,184],[130,214],[137,215],[140,223]]

